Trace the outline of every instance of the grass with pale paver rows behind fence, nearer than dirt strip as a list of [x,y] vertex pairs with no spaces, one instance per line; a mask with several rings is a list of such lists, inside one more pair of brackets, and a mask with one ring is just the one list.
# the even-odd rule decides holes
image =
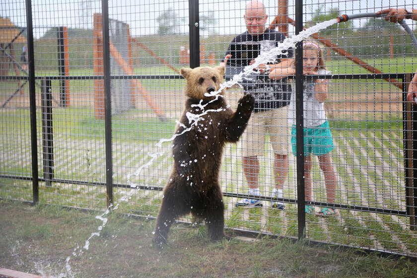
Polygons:
[[[40,184],[40,201],[44,204],[100,209],[106,200],[105,187],[88,183],[105,183],[104,122],[93,117],[92,109],[56,109],[54,114],[54,174],[56,179],[81,181],[81,184]],[[28,110],[1,112],[0,172],[31,176],[30,129]],[[155,217],[163,187],[171,170],[170,144],[155,146],[159,139],[172,136],[175,122],[161,123],[155,118],[137,117],[136,113],[115,116],[113,123],[113,181],[149,190],[114,188],[114,198],[122,212]],[[40,115],[38,115],[39,119]],[[22,123],[25,123],[22,125]],[[338,173],[336,202],[379,209],[405,210],[404,153],[402,121],[332,120],[336,149],[332,158]],[[41,146],[42,128],[38,128]],[[10,138],[10,140],[7,140]],[[16,141],[12,138],[20,138]],[[261,158],[262,195],[269,196],[274,184],[272,152]],[[41,151],[41,147],[39,149]],[[157,155],[156,155],[157,154]],[[153,155],[153,156],[152,156]],[[42,159],[42,154],[38,154]],[[42,161],[39,173],[43,176]],[[223,192],[246,193],[242,173],[241,146],[226,148],[221,172]],[[359,166],[360,165],[360,166]],[[296,199],[295,158],[290,156],[284,198]],[[313,167],[313,194],[317,202],[326,202],[323,176],[317,163]],[[0,179],[0,196],[4,199],[32,199],[30,181]],[[297,235],[297,209],[287,203],[284,211],[269,208],[236,208],[237,198],[224,198],[226,225],[282,236]],[[316,211],[320,209],[316,208]],[[185,217],[183,220],[192,221]],[[410,230],[409,218],[366,211],[340,209],[335,217],[307,215],[307,236],[314,240],[417,254],[416,232]]]

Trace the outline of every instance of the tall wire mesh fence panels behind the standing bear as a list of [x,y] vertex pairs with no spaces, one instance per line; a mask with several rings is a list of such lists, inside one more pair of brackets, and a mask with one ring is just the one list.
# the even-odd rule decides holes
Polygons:
[[[303,26],[340,14],[406,4],[320,2],[265,0],[267,26],[291,37]],[[161,139],[172,137],[185,100],[179,69],[218,65],[232,39],[246,31],[246,4],[5,1],[0,9],[0,198],[85,209],[112,203],[122,212],[155,217],[172,167],[170,141]],[[312,37],[332,72],[318,78],[331,81],[325,108],[335,146],[329,153],[335,197],[329,200],[329,179],[315,155],[306,175],[303,148],[293,153],[291,135],[278,134],[288,149],[288,165],[279,164],[267,135],[261,142],[265,149],[258,150],[263,207],[236,207],[248,197],[243,137],[223,156],[226,226],[416,256],[417,115],[416,106],[405,101],[416,68],[412,41],[398,24],[380,18],[333,24]],[[23,46],[28,64],[21,58]],[[302,107],[300,44],[295,54],[297,73],[289,80]],[[240,87],[228,90],[232,108],[243,94]],[[287,117],[281,118],[279,128],[290,128]],[[303,136],[298,132],[293,139],[300,142]],[[283,167],[288,171],[283,195],[273,199]],[[271,208],[274,200],[285,209]],[[306,213],[306,205],[315,212],[336,208],[338,215]]]

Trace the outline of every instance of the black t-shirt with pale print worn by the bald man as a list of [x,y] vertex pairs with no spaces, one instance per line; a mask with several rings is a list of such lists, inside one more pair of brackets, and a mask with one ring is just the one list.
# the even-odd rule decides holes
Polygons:
[[[250,61],[257,58],[264,51],[277,47],[285,39],[285,35],[267,28],[258,36],[253,36],[246,31],[237,35],[229,45],[226,55],[232,57],[227,65],[238,67],[248,66]],[[278,55],[276,61],[269,64],[278,64],[281,59],[293,57],[293,50],[288,49],[285,54]],[[287,79],[272,80],[266,74],[259,74],[255,87],[244,87],[246,93],[255,98],[254,112],[283,107],[289,104],[291,86]]]

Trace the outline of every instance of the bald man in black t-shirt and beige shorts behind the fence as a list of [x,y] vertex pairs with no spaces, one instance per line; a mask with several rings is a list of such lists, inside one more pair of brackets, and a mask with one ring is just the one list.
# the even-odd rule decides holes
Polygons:
[[[266,27],[268,15],[264,4],[260,1],[250,1],[243,14],[247,31],[237,35],[229,45],[223,61],[228,66],[245,67],[252,64],[260,54],[278,46],[285,35]],[[255,109],[242,137],[243,172],[248,182],[248,194],[260,196],[259,188],[259,159],[265,154],[266,135],[270,135],[274,150],[275,186],[270,192],[271,197],[282,198],[283,183],[288,174],[288,110],[290,85],[286,79],[271,80],[271,67],[287,67],[292,59],[293,50],[274,57],[275,61],[268,65],[261,64],[257,70],[259,75],[255,86],[245,86],[245,94],[255,98]],[[268,172],[268,171],[267,171]],[[258,199],[244,198],[236,206],[262,206]],[[282,202],[271,202],[271,207],[284,209]]]

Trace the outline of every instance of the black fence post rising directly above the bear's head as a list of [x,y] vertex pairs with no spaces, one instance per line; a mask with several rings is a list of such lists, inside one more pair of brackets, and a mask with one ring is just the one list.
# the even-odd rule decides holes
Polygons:
[[190,28],[190,68],[200,67],[200,16],[199,0],[188,1]]

